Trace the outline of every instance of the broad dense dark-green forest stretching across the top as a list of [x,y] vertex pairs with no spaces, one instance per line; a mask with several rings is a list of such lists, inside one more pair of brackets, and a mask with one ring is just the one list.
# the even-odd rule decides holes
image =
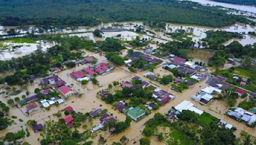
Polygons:
[[176,0],[0,0],[1,25],[97,25],[100,22],[172,22],[221,27],[248,22],[218,8]]

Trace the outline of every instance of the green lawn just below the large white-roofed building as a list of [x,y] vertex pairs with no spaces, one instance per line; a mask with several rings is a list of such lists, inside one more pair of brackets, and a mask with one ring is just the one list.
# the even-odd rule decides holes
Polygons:
[[211,116],[209,113],[203,113],[202,115],[198,116],[198,121],[199,124],[202,125],[203,127],[209,127],[211,122],[214,124],[217,124],[218,121],[220,121],[218,118]]

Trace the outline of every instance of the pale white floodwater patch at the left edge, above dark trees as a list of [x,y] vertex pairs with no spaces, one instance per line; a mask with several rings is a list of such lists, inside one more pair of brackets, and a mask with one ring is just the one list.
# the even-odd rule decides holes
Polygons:
[[2,50],[0,52],[0,60],[10,60],[13,57],[22,57],[24,55],[28,55],[29,53],[35,52],[38,48],[42,49],[43,51],[47,50],[51,46],[54,46],[54,43],[44,43],[43,41],[37,41],[36,43],[10,43],[5,42],[3,43],[4,46],[8,47],[18,47],[15,48],[13,51],[10,49]]

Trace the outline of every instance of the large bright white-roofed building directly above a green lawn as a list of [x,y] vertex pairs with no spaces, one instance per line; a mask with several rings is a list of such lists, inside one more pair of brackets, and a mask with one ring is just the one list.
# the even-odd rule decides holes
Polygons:
[[194,104],[192,104],[188,100],[184,100],[183,102],[175,106],[174,109],[177,111],[176,114],[182,113],[183,110],[189,110],[199,115],[204,113],[204,111],[198,109],[197,107],[194,107]]

